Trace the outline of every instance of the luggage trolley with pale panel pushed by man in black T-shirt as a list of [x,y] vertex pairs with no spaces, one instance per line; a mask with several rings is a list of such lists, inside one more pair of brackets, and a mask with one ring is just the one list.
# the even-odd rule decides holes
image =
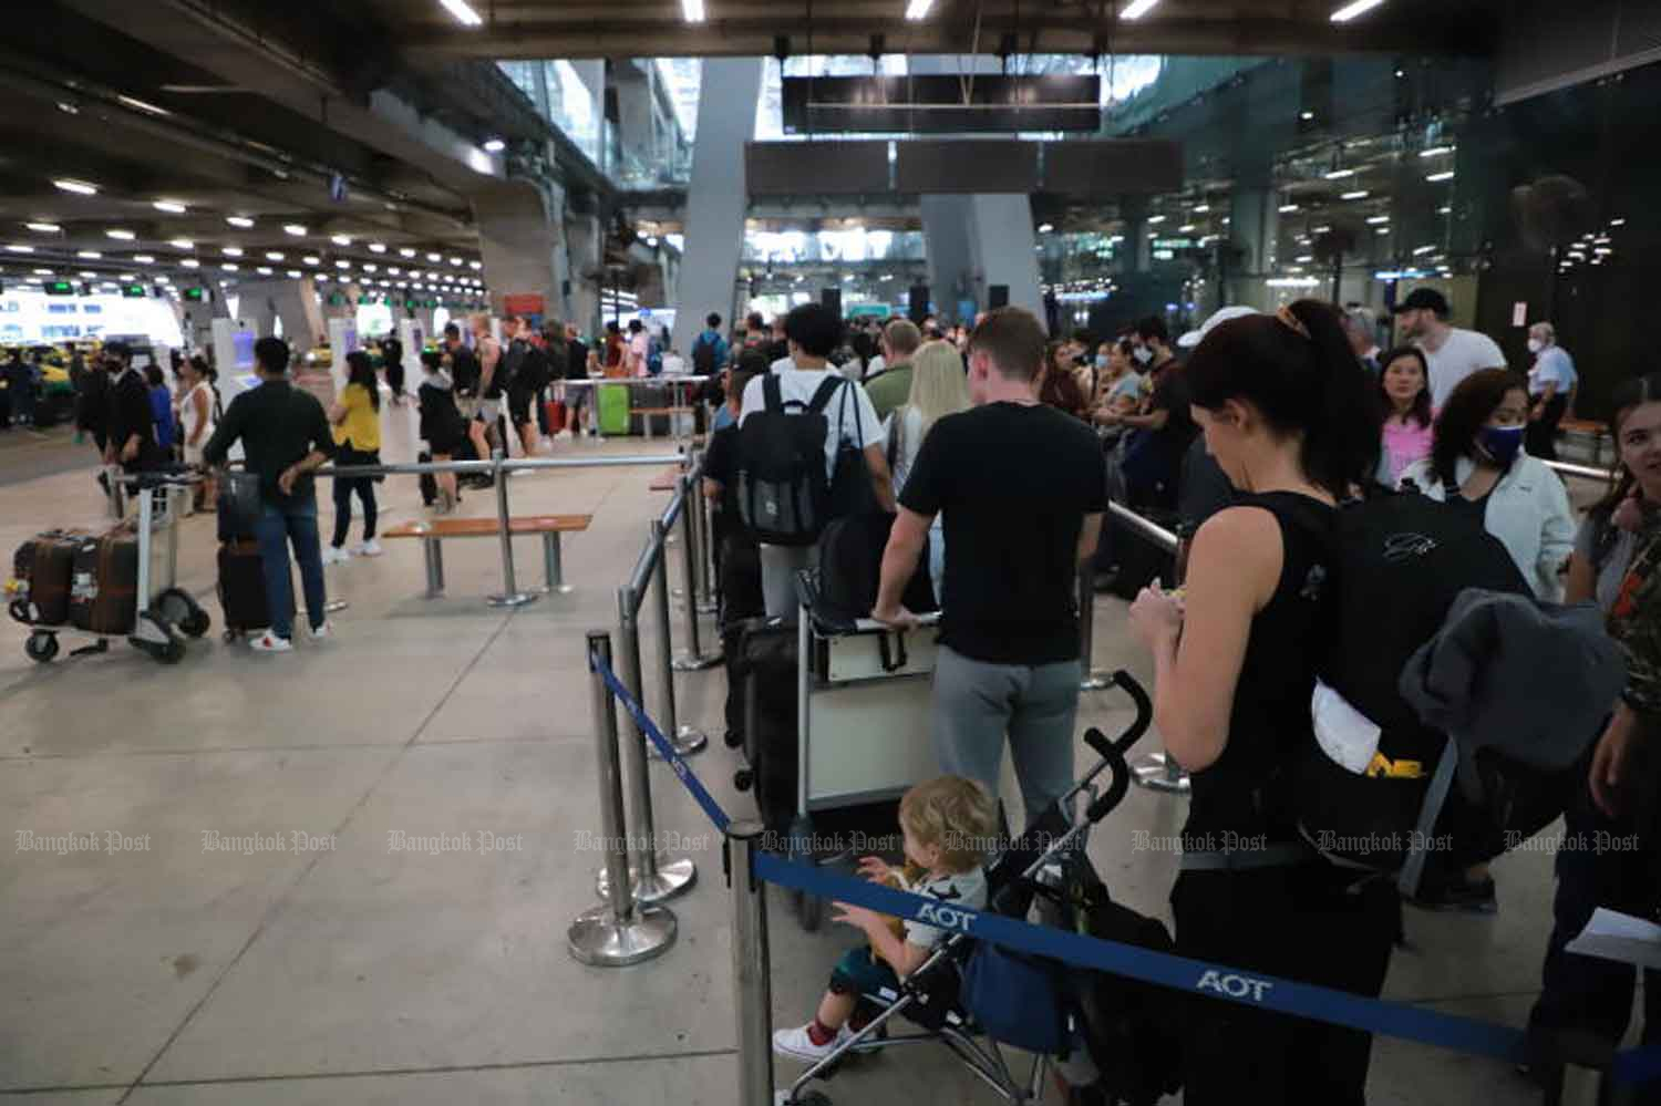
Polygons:
[[[919,631],[869,618],[830,626],[814,616],[816,581],[797,581],[796,815],[787,855],[812,860],[816,810],[899,799],[940,774],[930,732],[938,613]],[[817,930],[824,900],[792,892],[804,930]]]

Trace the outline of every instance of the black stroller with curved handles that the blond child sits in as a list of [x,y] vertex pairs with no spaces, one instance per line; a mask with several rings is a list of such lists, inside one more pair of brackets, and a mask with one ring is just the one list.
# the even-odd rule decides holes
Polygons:
[[[1040,814],[1017,840],[987,865],[987,910],[1038,918],[1075,932],[1171,952],[1163,923],[1113,903],[1085,857],[1090,827],[1111,812],[1129,787],[1124,754],[1146,732],[1153,704],[1128,674],[1113,683],[1136,704],[1136,721],[1108,741],[1098,729],[1085,742],[1101,757],[1073,787]],[[1098,794],[1095,779],[1111,769]],[[1073,800],[1090,795],[1083,819]],[[1179,1089],[1179,998],[1146,983],[1073,968],[1028,953],[1000,948],[967,933],[943,940],[899,993],[864,993],[870,1013],[862,1030],[812,1064],[779,1096],[786,1106],[827,1106],[821,1091],[806,1089],[830,1079],[842,1063],[895,1045],[937,1040],[997,1093],[1000,1101],[1031,1106],[1043,1101],[1043,1076],[1051,1060],[1080,1106],[1153,1106]],[[895,1015],[917,1031],[890,1035]],[[977,1040],[980,1038],[980,1040]],[[1018,1079],[1003,1046],[1033,1053],[1031,1071]]]

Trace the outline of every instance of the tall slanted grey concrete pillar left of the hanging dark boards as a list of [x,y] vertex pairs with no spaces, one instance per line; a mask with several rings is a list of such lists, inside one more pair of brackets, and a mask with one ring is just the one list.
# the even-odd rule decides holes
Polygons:
[[676,286],[674,345],[691,349],[711,311],[731,324],[744,247],[744,143],[756,128],[761,58],[706,58],[698,143],[686,189],[686,256]]

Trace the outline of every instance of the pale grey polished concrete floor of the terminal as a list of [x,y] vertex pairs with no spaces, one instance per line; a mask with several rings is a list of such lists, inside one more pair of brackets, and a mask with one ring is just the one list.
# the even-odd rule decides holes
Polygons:
[[[407,448],[407,415],[389,412],[389,457]],[[213,633],[173,668],[126,646],[40,668],[23,658],[20,628],[0,631],[0,809],[13,839],[0,854],[3,1101],[731,1106],[719,844],[661,764],[658,827],[681,835],[701,872],[673,903],[676,947],[623,970],[581,967],[565,950],[566,925],[595,902],[600,860],[583,849],[600,829],[583,631],[615,626],[616,588],[664,503],[648,490],[654,472],[512,480],[515,511],[593,513],[566,545],[576,591],[517,611],[483,603],[498,586],[493,541],[452,543],[437,601],[419,598],[419,548],[392,541],[380,560],[329,570],[331,596],[350,604],[336,616],[339,638],[302,639],[289,656],[251,656]],[[420,513],[414,483],[382,485],[389,521]],[[485,495],[463,505],[490,508]],[[96,523],[98,510],[85,472],[0,488],[0,548],[48,525]],[[211,520],[186,521],[181,580],[218,623],[213,553]],[[522,580],[538,580],[537,546],[520,543],[518,556]],[[678,575],[678,553],[671,565]],[[1098,628],[1098,668],[1148,676],[1123,604],[1103,599]],[[679,623],[674,633],[679,646]],[[653,643],[648,621],[648,658]],[[683,721],[716,736],[694,767],[729,810],[749,810],[718,736],[719,669],[678,678],[678,694]],[[1081,722],[1111,731],[1128,719],[1123,697],[1085,696]],[[1166,913],[1173,857],[1138,852],[1133,830],[1171,834],[1181,817],[1181,799],[1133,790],[1095,834],[1120,898]],[[60,855],[25,849],[27,834],[148,847]],[[507,847],[410,852],[394,849],[399,834]],[[211,847],[216,835],[286,847],[229,852]],[[296,835],[309,847],[296,850]],[[1515,854],[1497,875],[1497,917],[1409,915],[1392,998],[1521,1023],[1538,986],[1550,859]],[[792,1025],[854,938],[837,927],[804,935],[779,895],[771,928],[774,1021]],[[781,1063],[781,1084],[797,1071]],[[932,1048],[860,1063],[827,1089],[869,1106],[992,1101]],[[1503,1064],[1400,1041],[1379,1041],[1370,1091],[1387,1106],[1531,1101]]]

